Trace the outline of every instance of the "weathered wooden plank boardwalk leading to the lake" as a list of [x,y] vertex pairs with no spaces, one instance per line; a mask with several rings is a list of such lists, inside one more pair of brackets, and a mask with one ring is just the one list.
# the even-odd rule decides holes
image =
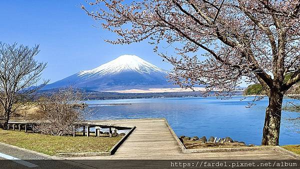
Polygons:
[[281,150],[256,149],[230,152],[182,152],[165,119],[95,120],[132,127],[135,130],[110,156],[66,157],[67,159],[295,159]]

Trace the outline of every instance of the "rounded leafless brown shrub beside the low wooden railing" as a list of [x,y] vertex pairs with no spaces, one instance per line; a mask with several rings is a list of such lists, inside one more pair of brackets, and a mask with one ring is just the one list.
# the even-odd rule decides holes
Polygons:
[[42,96],[39,99],[41,122],[35,129],[51,135],[70,134],[73,126],[89,115],[84,105],[83,93],[71,86]]

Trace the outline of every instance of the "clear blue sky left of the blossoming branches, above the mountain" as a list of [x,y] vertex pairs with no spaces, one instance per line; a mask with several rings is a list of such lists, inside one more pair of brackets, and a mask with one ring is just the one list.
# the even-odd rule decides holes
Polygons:
[[115,38],[80,8],[84,0],[1,0],[0,41],[40,45],[37,60],[47,62],[42,77],[50,82],[99,66],[122,54],[135,54],[164,69],[171,65],[147,42],[112,45]]

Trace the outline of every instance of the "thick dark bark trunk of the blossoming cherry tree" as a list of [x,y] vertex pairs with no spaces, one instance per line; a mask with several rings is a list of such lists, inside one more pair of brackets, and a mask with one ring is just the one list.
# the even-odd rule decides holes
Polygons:
[[279,130],[283,94],[270,90],[269,104],[265,111],[261,145],[279,145]]

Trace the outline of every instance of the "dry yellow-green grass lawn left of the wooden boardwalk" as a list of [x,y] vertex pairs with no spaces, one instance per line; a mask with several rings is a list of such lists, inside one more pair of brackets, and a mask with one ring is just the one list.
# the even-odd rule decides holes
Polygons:
[[53,136],[24,131],[0,129],[0,142],[33,151],[55,155],[61,152],[104,152],[116,144],[121,136]]

